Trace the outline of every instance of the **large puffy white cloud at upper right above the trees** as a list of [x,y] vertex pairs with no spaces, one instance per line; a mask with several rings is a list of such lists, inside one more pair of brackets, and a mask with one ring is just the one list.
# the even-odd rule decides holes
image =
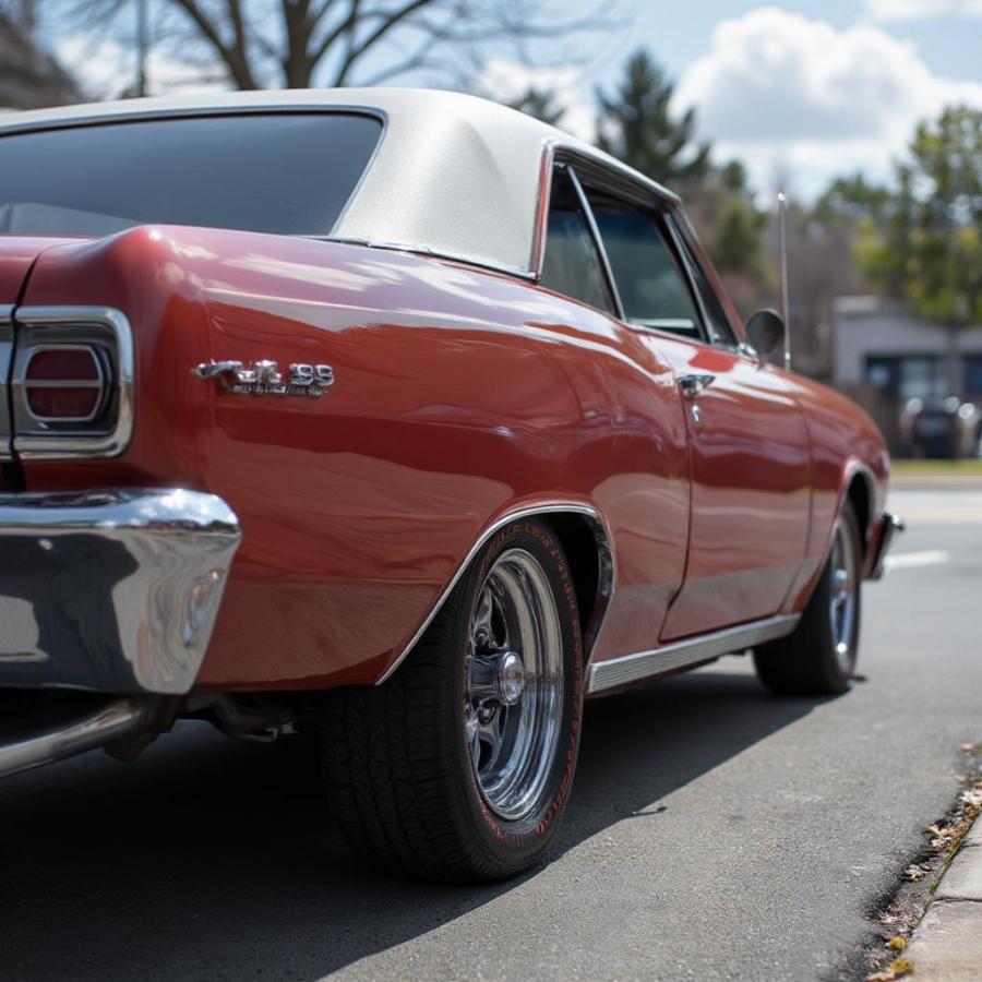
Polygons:
[[777,8],[719,24],[675,92],[720,158],[743,158],[762,189],[785,171],[805,195],[849,171],[886,177],[914,125],[953,103],[982,107],[982,85],[933,74],[874,25],[840,31]]

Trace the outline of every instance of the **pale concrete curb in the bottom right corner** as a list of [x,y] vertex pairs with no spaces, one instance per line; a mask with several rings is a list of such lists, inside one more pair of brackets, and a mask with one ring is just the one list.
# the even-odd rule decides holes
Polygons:
[[921,982],[982,979],[982,818],[951,860],[905,955]]

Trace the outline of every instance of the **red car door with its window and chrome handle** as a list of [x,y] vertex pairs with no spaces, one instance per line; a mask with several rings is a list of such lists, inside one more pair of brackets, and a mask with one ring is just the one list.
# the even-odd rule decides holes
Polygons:
[[671,203],[586,193],[624,322],[671,364],[687,409],[687,559],[660,639],[776,614],[807,539],[803,415],[782,373],[740,347]]

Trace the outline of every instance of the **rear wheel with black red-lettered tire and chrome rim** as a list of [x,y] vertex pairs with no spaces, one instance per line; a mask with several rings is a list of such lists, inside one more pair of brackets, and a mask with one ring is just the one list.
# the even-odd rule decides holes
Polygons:
[[452,883],[532,865],[570,795],[582,671],[560,543],[543,523],[516,520],[385,684],[325,697],[327,791],[356,852]]

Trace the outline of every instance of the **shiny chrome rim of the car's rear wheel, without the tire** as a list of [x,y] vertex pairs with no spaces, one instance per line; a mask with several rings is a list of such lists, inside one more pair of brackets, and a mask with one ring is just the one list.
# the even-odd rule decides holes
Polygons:
[[563,642],[546,571],[503,552],[477,594],[465,659],[464,739],[481,795],[516,821],[539,804],[559,744]]

